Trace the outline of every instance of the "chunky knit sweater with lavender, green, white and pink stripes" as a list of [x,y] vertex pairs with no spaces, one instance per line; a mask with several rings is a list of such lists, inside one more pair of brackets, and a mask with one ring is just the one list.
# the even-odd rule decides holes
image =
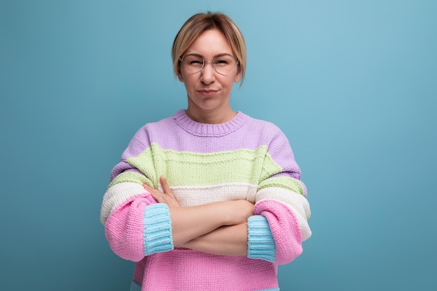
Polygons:
[[[248,200],[248,253],[226,256],[175,248],[166,204],[143,184],[164,175],[181,207]],[[136,262],[131,290],[279,290],[278,264],[302,253],[311,236],[306,187],[286,136],[243,112],[200,124],[184,110],[146,124],[112,169],[101,222],[114,253]]]

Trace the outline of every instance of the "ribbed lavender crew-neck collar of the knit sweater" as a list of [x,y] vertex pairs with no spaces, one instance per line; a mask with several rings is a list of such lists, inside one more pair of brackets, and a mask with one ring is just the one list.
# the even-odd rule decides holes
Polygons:
[[249,117],[243,112],[238,111],[235,117],[224,124],[200,124],[199,122],[190,119],[185,110],[179,110],[173,116],[178,126],[186,130],[188,133],[198,136],[219,137],[228,135],[238,130],[246,122]]

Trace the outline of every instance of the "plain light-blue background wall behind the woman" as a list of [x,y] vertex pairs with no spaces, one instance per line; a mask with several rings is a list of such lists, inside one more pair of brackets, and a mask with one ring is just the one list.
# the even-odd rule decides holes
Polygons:
[[0,1],[0,290],[128,290],[99,221],[140,126],[186,107],[194,13],[242,29],[232,107],[288,136],[313,237],[281,290],[436,290],[437,2]]

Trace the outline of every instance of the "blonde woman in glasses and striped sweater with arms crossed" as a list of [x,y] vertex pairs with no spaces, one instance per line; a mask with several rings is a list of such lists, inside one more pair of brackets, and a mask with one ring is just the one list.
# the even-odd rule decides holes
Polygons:
[[172,47],[186,110],[146,124],[112,170],[101,221],[137,262],[131,290],[279,290],[277,265],[311,236],[285,135],[230,107],[244,38],[221,13],[193,15]]

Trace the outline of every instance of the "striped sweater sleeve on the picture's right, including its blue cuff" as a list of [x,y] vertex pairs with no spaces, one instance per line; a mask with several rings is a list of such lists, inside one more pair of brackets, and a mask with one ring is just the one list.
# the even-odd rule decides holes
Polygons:
[[[262,218],[249,220],[248,256],[288,264],[302,253],[302,241],[311,237],[311,211],[300,169],[280,130],[269,144],[264,168],[254,209]],[[251,236],[254,231],[258,235]]]

